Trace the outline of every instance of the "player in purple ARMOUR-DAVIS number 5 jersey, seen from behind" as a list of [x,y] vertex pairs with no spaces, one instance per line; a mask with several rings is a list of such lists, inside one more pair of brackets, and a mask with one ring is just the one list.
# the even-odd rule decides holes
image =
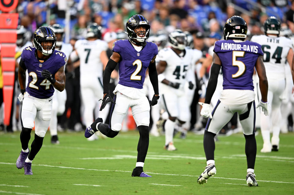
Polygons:
[[[224,39],[215,43],[213,54],[213,65],[209,77],[205,102],[201,103],[201,115],[209,117],[205,127],[203,138],[204,151],[207,166],[199,176],[197,182],[203,184],[210,176],[216,174],[214,162],[214,136],[232,118],[234,113],[238,113],[243,134],[246,140],[245,153],[247,157],[246,182],[249,186],[257,186],[254,174],[254,164],[256,158],[255,140],[255,102],[253,72],[256,68],[259,77],[261,90],[261,101],[258,107],[262,107],[264,114],[268,114],[267,91],[268,82],[263,64],[263,52],[261,45],[245,41],[247,34],[247,24],[242,17],[232,16],[224,25]],[[217,86],[217,78],[223,72],[223,91],[217,105],[211,113],[210,100]]]

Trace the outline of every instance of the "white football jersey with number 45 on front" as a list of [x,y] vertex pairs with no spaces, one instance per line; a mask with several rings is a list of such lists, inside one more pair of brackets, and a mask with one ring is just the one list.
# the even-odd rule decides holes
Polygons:
[[191,74],[192,62],[195,63],[195,60],[193,60],[194,51],[187,48],[185,50],[185,55],[180,57],[171,48],[164,48],[158,52],[156,57],[156,60],[167,63],[167,67],[162,73],[164,78],[170,82],[180,83],[180,90],[183,90],[185,82],[189,79],[187,78],[187,73]]

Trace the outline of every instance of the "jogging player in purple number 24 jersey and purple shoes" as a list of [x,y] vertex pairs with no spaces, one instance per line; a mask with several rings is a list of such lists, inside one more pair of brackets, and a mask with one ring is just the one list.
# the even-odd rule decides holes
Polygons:
[[[64,65],[66,56],[55,50],[56,37],[52,29],[42,26],[34,32],[34,47],[28,46],[21,54],[18,81],[21,87],[21,154],[16,166],[24,167],[25,175],[32,175],[32,160],[43,144],[49,127],[54,88],[63,91],[65,87]],[[25,72],[28,71],[28,85],[25,87]],[[35,139],[28,148],[35,121]]]

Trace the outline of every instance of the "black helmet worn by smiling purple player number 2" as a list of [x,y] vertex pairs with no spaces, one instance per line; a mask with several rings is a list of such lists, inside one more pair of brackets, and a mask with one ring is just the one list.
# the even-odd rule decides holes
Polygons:
[[[134,30],[139,26],[145,26],[146,33],[144,37],[139,37]],[[150,25],[149,21],[142,15],[133,15],[126,22],[126,32],[131,39],[136,39],[139,42],[144,42],[149,37]]]

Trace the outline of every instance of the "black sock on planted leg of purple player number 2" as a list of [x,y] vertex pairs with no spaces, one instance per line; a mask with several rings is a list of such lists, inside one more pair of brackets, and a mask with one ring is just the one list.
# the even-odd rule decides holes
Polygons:
[[148,146],[149,146],[149,127],[145,125],[140,125],[138,126],[138,129],[140,133],[140,138],[139,138],[138,147],[137,147],[137,151],[138,151],[137,162],[144,162],[147,155]]

